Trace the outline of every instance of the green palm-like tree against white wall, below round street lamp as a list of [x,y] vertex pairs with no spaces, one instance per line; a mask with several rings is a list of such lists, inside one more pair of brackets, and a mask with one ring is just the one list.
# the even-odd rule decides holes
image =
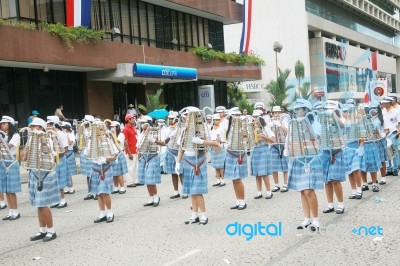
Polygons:
[[270,107],[283,106],[287,107],[287,103],[283,103],[286,99],[286,92],[292,89],[293,85],[287,85],[286,81],[290,74],[290,69],[284,71],[279,69],[279,76],[277,80],[271,80],[270,83],[265,87],[267,92],[271,94],[271,101],[269,102]]

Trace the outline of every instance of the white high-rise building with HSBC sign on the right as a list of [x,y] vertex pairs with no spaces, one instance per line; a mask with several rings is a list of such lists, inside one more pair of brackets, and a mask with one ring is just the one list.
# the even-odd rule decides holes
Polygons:
[[[300,60],[305,67],[300,84],[309,82],[324,98],[362,101],[379,84],[384,94],[398,93],[399,8],[399,0],[253,0],[250,49],[267,64],[262,80],[241,86],[249,98],[268,102],[264,87],[276,79],[277,68],[291,69],[288,84],[299,86],[295,63]],[[240,27],[225,26],[226,51],[238,50]],[[279,53],[274,42],[283,46]]]

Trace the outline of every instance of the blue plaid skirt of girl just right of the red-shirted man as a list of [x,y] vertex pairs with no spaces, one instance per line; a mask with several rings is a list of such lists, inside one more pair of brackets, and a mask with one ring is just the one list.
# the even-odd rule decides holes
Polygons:
[[145,185],[160,184],[161,166],[158,154],[142,154],[139,159],[138,173],[139,183]]

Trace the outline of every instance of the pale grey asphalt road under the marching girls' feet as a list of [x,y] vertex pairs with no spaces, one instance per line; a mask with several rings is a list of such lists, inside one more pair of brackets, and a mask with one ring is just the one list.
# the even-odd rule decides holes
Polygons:
[[[322,226],[314,234],[295,229],[303,220],[298,192],[277,192],[270,200],[255,200],[255,178],[249,177],[244,181],[248,208],[230,210],[235,203],[232,183],[214,188],[211,167],[208,174],[209,224],[205,226],[184,224],[191,215],[190,198],[169,199],[170,175],[163,175],[158,186],[159,207],[143,207],[148,199],[144,186],[128,188],[123,195],[112,195],[115,221],[94,224],[97,202],[83,200],[86,178],[75,176],[76,193],[66,195],[68,207],[53,209],[58,238],[48,243],[29,240],[38,230],[37,211],[30,206],[27,184],[23,184],[18,194],[21,218],[0,221],[0,264],[399,265],[399,177],[388,177],[379,193],[366,191],[361,200],[347,199],[350,188],[345,182],[342,215],[323,214],[326,198],[324,191],[318,191]],[[0,216],[7,212],[0,211]],[[261,228],[264,236],[254,224],[268,226]]]

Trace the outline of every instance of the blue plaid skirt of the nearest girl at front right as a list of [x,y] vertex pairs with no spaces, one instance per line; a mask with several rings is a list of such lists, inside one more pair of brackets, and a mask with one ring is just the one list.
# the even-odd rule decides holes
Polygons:
[[[306,189],[322,189],[324,187],[324,173],[319,157],[314,157],[310,163],[310,171],[306,173],[304,164],[299,159],[289,158],[288,188],[302,191]],[[302,159],[304,160],[304,159]],[[307,159],[310,162],[311,158]]]

